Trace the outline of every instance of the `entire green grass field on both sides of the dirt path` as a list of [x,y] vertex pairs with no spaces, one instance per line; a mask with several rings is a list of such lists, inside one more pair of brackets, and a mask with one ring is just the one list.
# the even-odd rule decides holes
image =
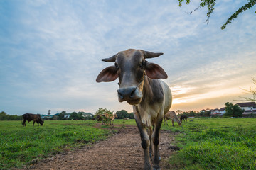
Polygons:
[[[193,120],[193,121],[190,121]],[[95,121],[46,120],[43,126],[0,121],[0,169],[21,168],[33,159],[50,157],[105,140],[112,131]],[[114,124],[136,125],[134,120]],[[195,118],[162,129],[176,133],[180,150],[169,159],[171,169],[256,169],[256,118]],[[161,141],[160,141],[161,142]]]

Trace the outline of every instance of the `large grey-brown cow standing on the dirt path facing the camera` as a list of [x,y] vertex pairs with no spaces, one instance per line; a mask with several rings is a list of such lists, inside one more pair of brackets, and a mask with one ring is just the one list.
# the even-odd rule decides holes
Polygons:
[[160,55],[163,53],[133,49],[118,52],[110,58],[102,59],[104,62],[114,62],[114,66],[103,69],[96,79],[97,82],[107,82],[119,78],[118,99],[119,102],[127,101],[133,107],[144,149],[144,169],[152,169],[149,159],[152,142],[153,167],[160,169],[159,132],[164,113],[169,111],[172,101],[169,86],[159,80],[167,78],[166,72],[159,65],[146,61],[147,58]]

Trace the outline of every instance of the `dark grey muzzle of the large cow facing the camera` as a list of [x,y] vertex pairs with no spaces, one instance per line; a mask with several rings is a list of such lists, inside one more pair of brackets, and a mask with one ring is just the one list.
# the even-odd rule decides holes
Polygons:
[[117,90],[119,102],[127,101],[131,105],[139,104],[142,100],[142,91],[137,86],[124,87]]

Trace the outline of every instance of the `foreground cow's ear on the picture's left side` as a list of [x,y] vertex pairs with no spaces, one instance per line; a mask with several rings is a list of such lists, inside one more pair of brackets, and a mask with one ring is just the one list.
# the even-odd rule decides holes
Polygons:
[[108,81],[114,81],[117,79],[118,74],[117,74],[117,69],[114,66],[107,67],[103,69],[100,74],[97,76],[96,81],[99,82],[108,82]]

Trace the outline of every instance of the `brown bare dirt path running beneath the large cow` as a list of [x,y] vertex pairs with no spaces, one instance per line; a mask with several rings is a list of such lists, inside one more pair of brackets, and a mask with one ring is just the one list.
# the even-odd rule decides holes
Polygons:
[[[169,169],[167,159],[174,153],[174,135],[162,130],[160,137],[161,169]],[[31,165],[29,169],[143,169],[143,166],[139,131],[137,127],[127,126],[90,148],[55,155]]]

